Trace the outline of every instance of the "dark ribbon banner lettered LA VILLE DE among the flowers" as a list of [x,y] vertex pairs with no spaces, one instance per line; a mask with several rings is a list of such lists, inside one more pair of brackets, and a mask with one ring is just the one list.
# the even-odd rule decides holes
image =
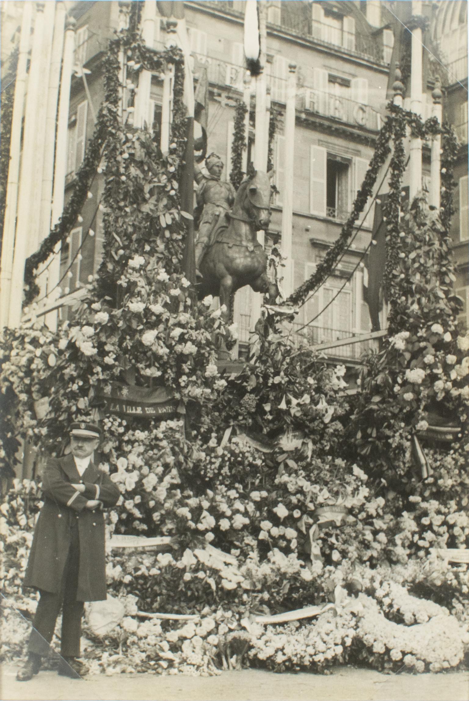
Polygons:
[[106,404],[111,414],[164,419],[186,413],[183,402],[175,400],[174,393],[167,387],[138,387],[109,382],[99,389],[97,398]]

